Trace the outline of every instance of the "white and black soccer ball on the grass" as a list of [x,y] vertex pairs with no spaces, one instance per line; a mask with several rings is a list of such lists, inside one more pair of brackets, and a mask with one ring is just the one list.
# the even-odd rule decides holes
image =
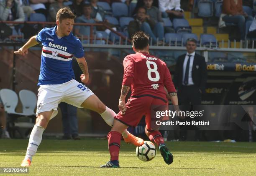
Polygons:
[[151,141],[144,141],[142,146],[136,148],[136,154],[141,161],[150,161],[156,156],[156,147]]

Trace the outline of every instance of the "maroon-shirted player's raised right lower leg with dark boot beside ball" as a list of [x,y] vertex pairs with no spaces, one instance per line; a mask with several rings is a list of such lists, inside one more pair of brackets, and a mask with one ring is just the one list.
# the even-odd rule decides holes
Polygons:
[[164,162],[166,164],[172,164],[173,156],[172,156],[171,152],[169,151],[169,149],[167,148],[167,146],[164,144],[164,138],[161,135],[161,133],[158,130],[157,131],[148,131],[147,126],[145,128],[145,132],[146,132],[146,135],[148,136],[148,138],[151,141],[155,142],[159,146],[159,150],[161,152],[161,156],[164,159]]

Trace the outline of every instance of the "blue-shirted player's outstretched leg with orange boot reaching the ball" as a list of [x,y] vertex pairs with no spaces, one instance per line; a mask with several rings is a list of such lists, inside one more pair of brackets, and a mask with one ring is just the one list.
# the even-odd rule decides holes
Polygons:
[[[95,111],[100,114],[102,119],[109,125],[113,126],[114,117],[117,115],[115,112],[106,107],[105,104],[103,104],[100,99],[96,95],[91,95],[88,97],[81,105],[82,107],[86,109],[90,109],[92,111]],[[125,129],[125,131],[122,133],[123,139],[126,143],[131,143],[135,146],[142,146],[144,144],[144,140],[134,136],[133,134],[129,133]]]

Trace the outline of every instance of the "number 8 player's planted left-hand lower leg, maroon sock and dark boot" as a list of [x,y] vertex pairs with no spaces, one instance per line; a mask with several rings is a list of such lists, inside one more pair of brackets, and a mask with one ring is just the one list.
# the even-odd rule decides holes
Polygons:
[[108,133],[108,149],[110,153],[110,161],[106,164],[101,165],[102,168],[119,168],[119,150],[120,150],[120,137],[122,131],[124,131],[128,126],[115,120],[111,131]]

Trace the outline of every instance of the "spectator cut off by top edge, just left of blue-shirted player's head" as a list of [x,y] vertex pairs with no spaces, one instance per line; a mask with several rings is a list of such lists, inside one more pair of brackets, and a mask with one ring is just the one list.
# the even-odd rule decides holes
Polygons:
[[55,0],[29,0],[30,1],[30,7],[36,12],[36,13],[42,13],[45,17],[48,15],[48,10],[46,9],[46,6],[44,3],[53,3]]

